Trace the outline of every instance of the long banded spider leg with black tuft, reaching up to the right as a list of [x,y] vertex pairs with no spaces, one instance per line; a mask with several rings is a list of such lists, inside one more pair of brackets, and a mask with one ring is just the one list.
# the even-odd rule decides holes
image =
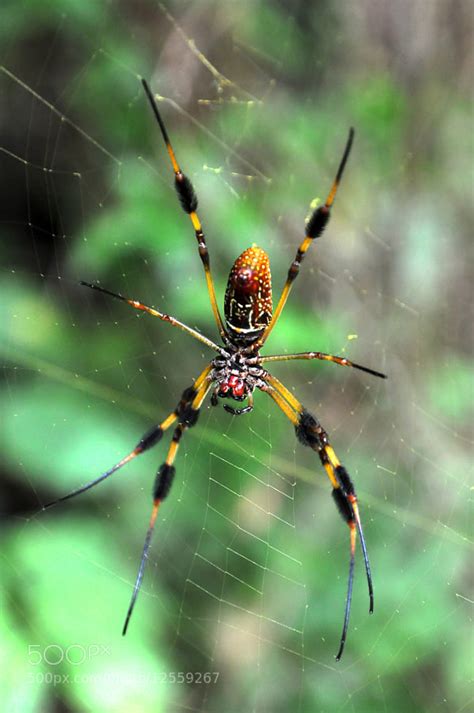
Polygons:
[[296,280],[299,270],[300,270],[300,265],[303,261],[304,256],[306,255],[306,252],[313,242],[315,238],[319,238],[320,235],[322,235],[324,228],[326,227],[329,218],[331,217],[331,207],[334,203],[334,199],[336,198],[336,193],[337,189],[339,187],[339,183],[341,182],[342,174],[344,172],[344,168],[346,166],[347,159],[349,157],[349,153],[352,147],[352,142],[354,139],[354,129],[351,127],[349,131],[349,137],[347,139],[346,147],[344,149],[344,153],[341,159],[341,163],[339,164],[339,168],[336,174],[336,178],[334,180],[334,183],[332,184],[331,190],[329,191],[329,195],[326,198],[326,202],[324,205],[320,206],[319,208],[316,208],[310,219],[308,220],[306,224],[306,237],[304,240],[300,243],[300,246],[298,247],[298,250],[296,251],[295,258],[293,262],[290,265],[290,269],[288,270],[288,276],[286,278],[285,285],[283,287],[283,291],[281,293],[281,297],[278,301],[277,307],[273,313],[273,317],[269,324],[265,327],[265,330],[262,334],[262,336],[252,345],[254,350],[260,349],[260,347],[266,342],[268,339],[270,332],[274,328],[275,324],[278,322],[278,319],[283,311],[283,308],[286,304],[286,301],[288,299],[288,295],[290,294],[291,288],[293,286],[293,282]]

